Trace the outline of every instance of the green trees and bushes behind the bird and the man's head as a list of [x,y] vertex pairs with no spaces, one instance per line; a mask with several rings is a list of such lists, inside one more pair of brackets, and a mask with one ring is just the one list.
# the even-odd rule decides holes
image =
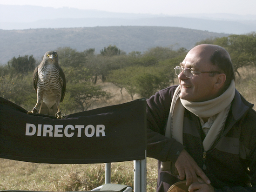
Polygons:
[[[227,49],[236,72],[240,67],[256,64],[255,33],[206,39],[197,44],[202,43]],[[94,48],[78,52],[60,47],[56,51],[67,79],[67,92],[61,104],[61,111],[66,114],[85,111],[99,99],[111,98],[111,93],[97,85],[99,79],[118,86],[121,94],[125,89],[131,99],[135,94],[149,98],[174,83],[174,67],[188,52],[185,48],[154,47],[144,53],[125,53],[111,45],[99,54],[95,54]],[[36,103],[32,76],[39,63],[33,55],[26,55],[13,57],[6,66],[0,66],[0,96],[31,110]]]

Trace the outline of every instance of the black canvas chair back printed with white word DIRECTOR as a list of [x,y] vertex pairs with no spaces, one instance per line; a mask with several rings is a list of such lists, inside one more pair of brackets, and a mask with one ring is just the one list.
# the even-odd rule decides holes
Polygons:
[[146,192],[146,100],[56,119],[29,115],[27,110],[0,97],[0,158],[107,165],[135,160],[139,174],[135,173],[134,191]]

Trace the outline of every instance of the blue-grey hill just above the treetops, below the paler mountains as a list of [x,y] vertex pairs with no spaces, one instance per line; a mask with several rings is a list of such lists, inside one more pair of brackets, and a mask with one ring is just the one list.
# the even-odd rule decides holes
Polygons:
[[0,64],[13,57],[31,55],[39,59],[49,50],[69,46],[77,51],[95,48],[96,53],[115,45],[126,53],[147,51],[156,46],[192,48],[207,38],[228,36],[225,33],[167,26],[97,26],[80,28],[40,28],[0,30]]

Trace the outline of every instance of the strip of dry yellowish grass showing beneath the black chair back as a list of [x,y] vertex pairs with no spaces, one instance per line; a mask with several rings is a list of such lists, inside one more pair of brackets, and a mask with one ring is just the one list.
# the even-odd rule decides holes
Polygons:
[[[156,160],[148,158],[148,192],[156,187]],[[112,163],[111,182],[133,186],[133,162]],[[38,164],[0,159],[0,190],[89,191],[104,184],[104,164]]]

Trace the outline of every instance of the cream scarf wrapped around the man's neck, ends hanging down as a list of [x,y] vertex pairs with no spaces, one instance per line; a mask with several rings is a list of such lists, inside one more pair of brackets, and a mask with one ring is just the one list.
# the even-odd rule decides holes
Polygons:
[[[226,118],[231,106],[231,101],[235,96],[234,80],[231,81],[229,88],[224,93],[222,93],[222,95],[208,101],[190,102],[184,99],[180,99],[179,94],[180,86],[176,88],[172,99],[165,136],[168,138],[174,138],[183,144],[183,118],[185,108],[201,118],[211,117],[217,114],[213,125],[203,140],[203,148],[205,151],[208,151],[217,139],[219,133],[222,130],[222,127],[225,125]],[[170,163],[162,163],[162,168],[164,170],[168,170],[169,167],[164,166],[164,164],[167,164],[166,166],[170,167]]]

